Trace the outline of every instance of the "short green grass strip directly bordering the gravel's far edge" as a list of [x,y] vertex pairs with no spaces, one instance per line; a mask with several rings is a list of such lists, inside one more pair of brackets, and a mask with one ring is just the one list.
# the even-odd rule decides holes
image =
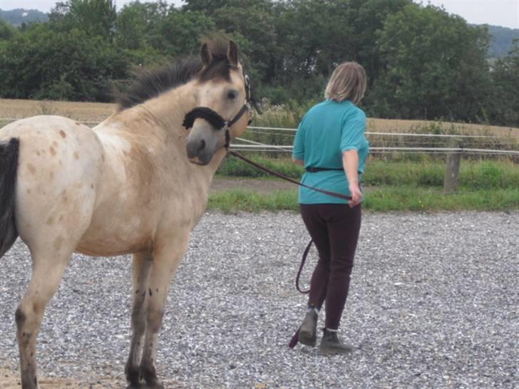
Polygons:
[[[423,187],[384,187],[368,190],[364,209],[389,211],[497,211],[519,209],[519,188],[461,191],[444,194]],[[210,195],[207,209],[221,212],[297,211],[297,190],[280,190],[258,194],[245,190],[228,190]]]

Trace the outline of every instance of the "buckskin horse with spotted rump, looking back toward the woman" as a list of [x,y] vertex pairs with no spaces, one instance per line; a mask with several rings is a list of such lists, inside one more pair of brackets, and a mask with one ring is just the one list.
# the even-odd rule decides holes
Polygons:
[[[128,389],[164,388],[155,368],[173,274],[202,217],[229,142],[252,119],[237,45],[140,76],[95,128],[40,115],[0,130],[0,258],[19,236],[31,253],[15,313],[21,387],[38,388],[36,337],[74,252],[132,255]],[[187,128],[190,128],[187,131]]]

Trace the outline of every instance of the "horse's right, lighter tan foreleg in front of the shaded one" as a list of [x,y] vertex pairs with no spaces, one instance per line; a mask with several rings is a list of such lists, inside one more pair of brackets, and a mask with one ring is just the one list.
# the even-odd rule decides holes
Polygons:
[[[153,254],[153,266],[148,287],[148,317],[144,339],[143,358],[140,363],[140,374],[150,389],[163,389],[157,378],[155,361],[157,356],[158,331],[162,325],[164,308],[171,279],[187,249],[187,239],[175,239],[176,247],[159,249]],[[171,242],[170,242],[171,243]]]

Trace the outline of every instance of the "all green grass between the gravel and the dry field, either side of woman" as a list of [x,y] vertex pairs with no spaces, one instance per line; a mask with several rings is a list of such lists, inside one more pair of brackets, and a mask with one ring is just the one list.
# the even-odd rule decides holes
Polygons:
[[[284,175],[298,178],[301,167],[290,160],[254,158]],[[219,175],[227,177],[261,177],[266,173],[234,158],[227,159]],[[388,211],[456,211],[519,209],[519,167],[510,160],[463,160],[459,190],[443,193],[445,164],[435,160],[418,162],[373,160],[364,175],[366,198],[364,209]],[[258,212],[261,210],[297,210],[297,189],[258,194],[230,190],[211,194],[209,209],[222,212]]]

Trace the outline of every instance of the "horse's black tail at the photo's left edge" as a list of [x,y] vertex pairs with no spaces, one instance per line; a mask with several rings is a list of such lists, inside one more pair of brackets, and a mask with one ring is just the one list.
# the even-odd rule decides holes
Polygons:
[[0,258],[6,254],[18,237],[14,223],[14,197],[20,141],[11,138],[0,142]]

